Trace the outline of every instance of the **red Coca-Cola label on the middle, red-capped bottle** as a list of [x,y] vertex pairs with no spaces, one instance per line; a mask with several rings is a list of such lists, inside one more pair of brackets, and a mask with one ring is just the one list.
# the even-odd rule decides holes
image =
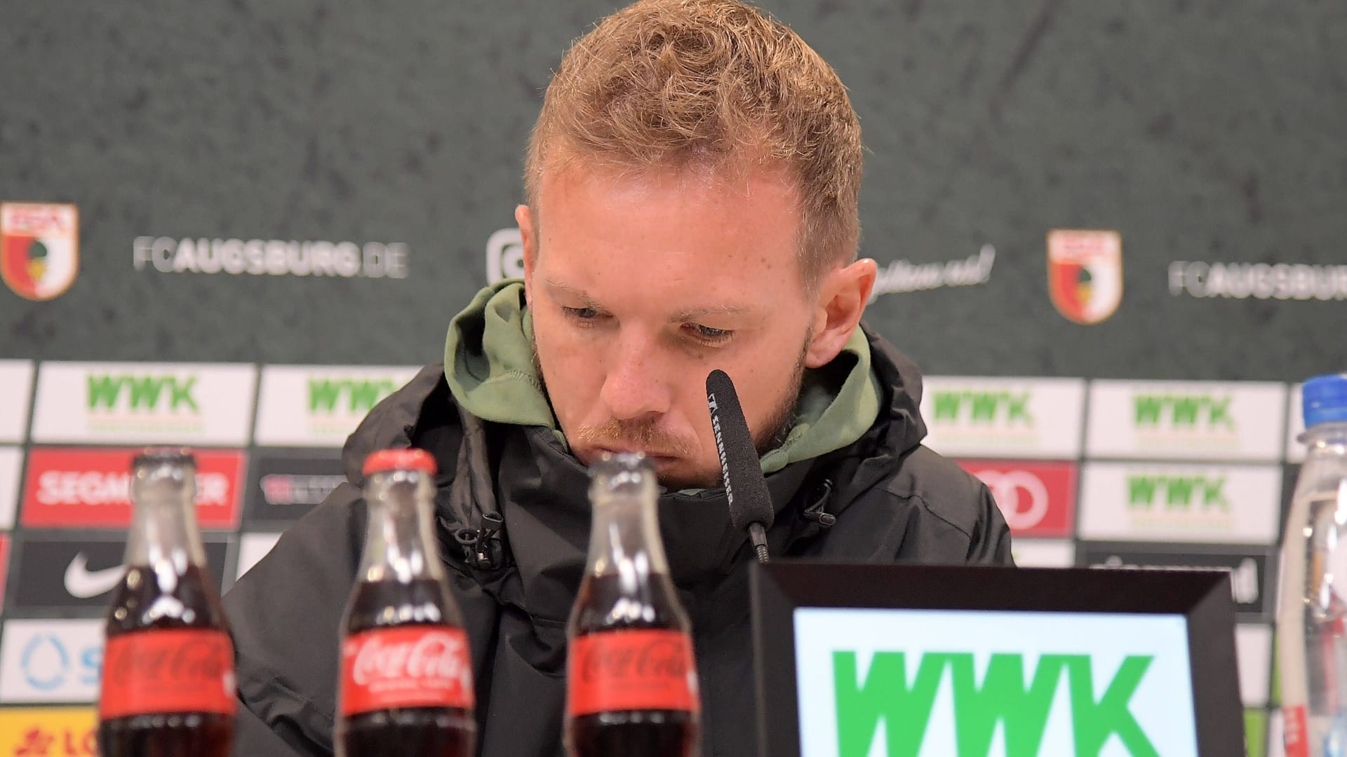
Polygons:
[[473,707],[467,634],[445,625],[366,630],[342,643],[341,711]]

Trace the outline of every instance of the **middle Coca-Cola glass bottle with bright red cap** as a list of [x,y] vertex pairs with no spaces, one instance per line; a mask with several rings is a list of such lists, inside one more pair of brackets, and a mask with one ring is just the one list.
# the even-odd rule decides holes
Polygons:
[[337,757],[475,754],[473,665],[434,531],[435,459],[365,459],[369,528],[346,605]]

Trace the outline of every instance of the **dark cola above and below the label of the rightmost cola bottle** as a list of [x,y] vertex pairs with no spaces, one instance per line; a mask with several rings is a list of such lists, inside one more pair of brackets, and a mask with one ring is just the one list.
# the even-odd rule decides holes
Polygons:
[[[622,593],[617,575],[590,575],[575,598],[575,636],[625,629],[680,629],[676,599],[665,581],[651,581],[647,595]],[[612,609],[624,601],[628,610],[614,620]],[[633,603],[637,606],[633,609]],[[634,612],[633,612],[634,610]],[[634,616],[634,617],[633,617]],[[570,718],[566,746],[570,757],[696,757],[700,725],[683,710],[630,710]]]

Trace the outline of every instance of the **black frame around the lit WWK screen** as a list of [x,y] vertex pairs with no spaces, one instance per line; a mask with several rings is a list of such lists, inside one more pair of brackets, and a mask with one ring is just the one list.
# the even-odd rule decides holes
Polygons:
[[[877,566],[808,560],[749,574],[758,753],[800,754],[797,607],[1183,616],[1200,757],[1243,754],[1235,610],[1223,571]],[[768,665],[766,661],[772,664]]]

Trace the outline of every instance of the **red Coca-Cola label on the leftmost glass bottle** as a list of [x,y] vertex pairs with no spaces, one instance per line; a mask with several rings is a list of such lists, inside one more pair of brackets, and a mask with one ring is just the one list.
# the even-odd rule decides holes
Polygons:
[[234,648],[221,630],[140,630],[108,640],[98,718],[234,714]]

